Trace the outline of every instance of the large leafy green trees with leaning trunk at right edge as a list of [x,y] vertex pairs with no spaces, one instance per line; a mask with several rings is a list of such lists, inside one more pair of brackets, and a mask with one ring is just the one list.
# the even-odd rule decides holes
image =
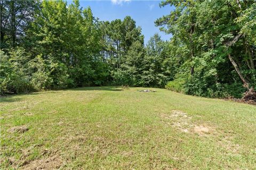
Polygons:
[[255,2],[167,0],[165,5],[175,10],[155,23],[173,35],[171,61],[179,62],[175,79],[186,74],[186,94],[241,97],[243,86],[255,86]]

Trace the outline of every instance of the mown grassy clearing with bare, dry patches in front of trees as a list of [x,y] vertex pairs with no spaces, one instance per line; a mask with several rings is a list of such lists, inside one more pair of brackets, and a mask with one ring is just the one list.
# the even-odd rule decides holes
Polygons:
[[255,106],[141,89],[1,98],[0,169],[256,169]]

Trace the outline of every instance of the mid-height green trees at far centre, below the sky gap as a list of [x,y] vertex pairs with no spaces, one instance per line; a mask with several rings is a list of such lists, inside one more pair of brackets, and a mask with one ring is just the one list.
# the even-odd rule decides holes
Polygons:
[[123,56],[124,63],[121,63],[116,71],[113,69],[113,83],[141,87],[164,87],[172,73],[166,69],[169,64],[166,44],[158,34],[150,38],[146,48],[141,41],[134,41],[126,55]]

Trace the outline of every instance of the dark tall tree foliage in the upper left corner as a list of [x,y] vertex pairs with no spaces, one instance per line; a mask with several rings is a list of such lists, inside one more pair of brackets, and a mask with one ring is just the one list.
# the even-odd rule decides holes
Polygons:
[[0,1],[1,50],[27,43],[23,37],[38,9],[39,1]]

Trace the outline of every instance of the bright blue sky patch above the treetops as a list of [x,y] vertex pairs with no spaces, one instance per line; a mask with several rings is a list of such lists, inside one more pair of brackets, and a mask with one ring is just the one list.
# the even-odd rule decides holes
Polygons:
[[[132,1],[132,0],[109,0],[109,1],[80,1],[82,7],[90,6],[93,16],[100,21],[123,20],[130,15],[136,21],[136,25],[142,29],[145,36],[145,44],[149,38],[158,33],[163,40],[169,40],[171,35],[166,35],[155,26],[154,21],[163,15],[170,14],[171,6],[160,8],[161,1]],[[68,4],[71,1],[68,1]]]

